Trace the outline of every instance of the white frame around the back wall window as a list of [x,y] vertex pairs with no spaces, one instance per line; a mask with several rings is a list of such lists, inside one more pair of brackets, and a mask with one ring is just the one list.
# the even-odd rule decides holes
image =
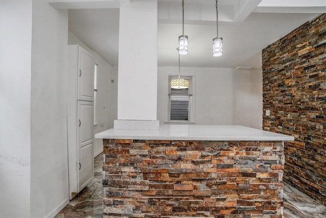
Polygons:
[[164,79],[164,123],[175,124],[195,124],[195,76],[194,75],[181,75],[180,78],[189,80],[189,114],[188,120],[171,120],[170,119],[170,78],[177,77],[176,75],[166,74]]

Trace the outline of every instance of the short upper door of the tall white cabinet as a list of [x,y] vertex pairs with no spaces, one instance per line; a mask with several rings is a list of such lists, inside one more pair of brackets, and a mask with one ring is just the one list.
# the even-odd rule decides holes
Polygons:
[[77,100],[94,101],[94,59],[78,46]]

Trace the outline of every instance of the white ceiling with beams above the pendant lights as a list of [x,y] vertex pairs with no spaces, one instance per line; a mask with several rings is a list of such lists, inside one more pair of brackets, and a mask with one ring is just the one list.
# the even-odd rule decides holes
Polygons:
[[[62,5],[57,5],[60,7]],[[73,8],[69,10],[69,31],[117,66],[119,6],[108,8],[99,3],[92,9],[80,5],[66,8]],[[324,0],[219,0],[223,56],[212,57],[212,39],[216,37],[215,1],[185,0],[184,33],[188,36],[188,55],[181,56],[181,66],[261,68],[264,47],[324,11]],[[181,0],[158,0],[158,66],[178,65],[176,47],[182,33],[181,23]]]

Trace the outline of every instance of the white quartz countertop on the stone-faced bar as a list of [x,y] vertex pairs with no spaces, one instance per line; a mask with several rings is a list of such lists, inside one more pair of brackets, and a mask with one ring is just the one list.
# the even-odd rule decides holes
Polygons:
[[107,139],[151,140],[226,140],[226,141],[292,141],[293,136],[243,126],[160,125],[159,130],[109,129],[95,135]]

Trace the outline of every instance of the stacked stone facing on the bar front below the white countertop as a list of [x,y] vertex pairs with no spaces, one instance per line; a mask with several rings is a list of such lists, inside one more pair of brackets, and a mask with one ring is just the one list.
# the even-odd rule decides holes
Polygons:
[[282,217],[281,141],[103,139],[103,146],[103,217]]

